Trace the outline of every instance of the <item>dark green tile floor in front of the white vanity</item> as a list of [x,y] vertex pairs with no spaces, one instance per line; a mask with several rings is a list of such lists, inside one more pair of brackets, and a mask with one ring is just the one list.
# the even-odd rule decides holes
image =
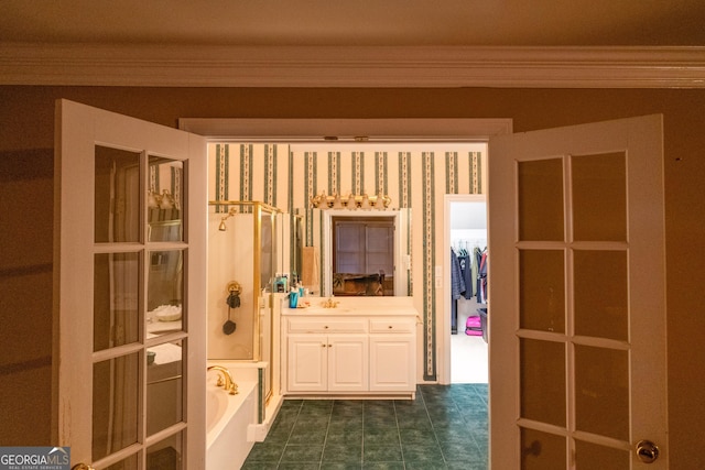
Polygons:
[[487,384],[416,400],[286,400],[243,469],[486,470]]

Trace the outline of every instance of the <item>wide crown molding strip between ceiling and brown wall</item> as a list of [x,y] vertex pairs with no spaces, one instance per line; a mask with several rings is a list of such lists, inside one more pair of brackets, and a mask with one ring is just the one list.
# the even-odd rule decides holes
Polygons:
[[705,88],[705,47],[4,43],[0,85]]

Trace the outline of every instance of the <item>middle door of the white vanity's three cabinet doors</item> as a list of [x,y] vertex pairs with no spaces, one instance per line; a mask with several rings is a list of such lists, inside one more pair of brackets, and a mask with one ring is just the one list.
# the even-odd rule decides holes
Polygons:
[[367,335],[328,336],[328,392],[369,390]]

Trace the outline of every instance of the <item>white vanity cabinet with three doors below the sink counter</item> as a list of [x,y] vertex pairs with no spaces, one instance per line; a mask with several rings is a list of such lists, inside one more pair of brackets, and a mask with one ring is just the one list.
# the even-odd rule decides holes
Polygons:
[[414,396],[414,313],[282,310],[284,394]]

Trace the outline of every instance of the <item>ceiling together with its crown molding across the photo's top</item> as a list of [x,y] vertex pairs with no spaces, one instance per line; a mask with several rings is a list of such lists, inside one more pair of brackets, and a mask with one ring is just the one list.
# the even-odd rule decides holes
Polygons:
[[0,0],[0,85],[705,88],[704,0]]

